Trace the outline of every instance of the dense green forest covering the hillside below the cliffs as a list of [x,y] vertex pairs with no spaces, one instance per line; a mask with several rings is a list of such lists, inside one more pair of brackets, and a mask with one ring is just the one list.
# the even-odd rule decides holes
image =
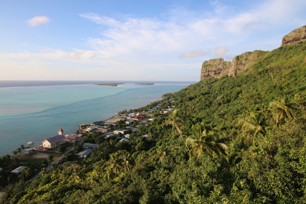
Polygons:
[[306,43],[280,47],[236,77],[165,94],[139,110],[175,109],[130,143],[68,155],[6,187],[2,203],[306,203],[305,97]]

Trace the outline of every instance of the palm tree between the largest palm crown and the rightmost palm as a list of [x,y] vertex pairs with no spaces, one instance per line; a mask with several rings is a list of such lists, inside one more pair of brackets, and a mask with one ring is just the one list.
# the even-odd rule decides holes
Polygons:
[[264,123],[265,119],[262,117],[262,113],[251,112],[245,119],[240,120],[242,124],[242,131],[245,133],[253,133],[253,144],[255,137],[258,133],[265,134]]

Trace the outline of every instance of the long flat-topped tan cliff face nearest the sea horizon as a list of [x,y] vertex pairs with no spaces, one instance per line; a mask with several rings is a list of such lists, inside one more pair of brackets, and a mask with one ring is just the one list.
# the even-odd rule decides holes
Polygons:
[[251,67],[254,59],[262,56],[264,51],[245,52],[236,56],[232,62],[224,61],[223,58],[211,59],[203,62],[200,80],[206,78],[221,78],[224,75],[236,76]]

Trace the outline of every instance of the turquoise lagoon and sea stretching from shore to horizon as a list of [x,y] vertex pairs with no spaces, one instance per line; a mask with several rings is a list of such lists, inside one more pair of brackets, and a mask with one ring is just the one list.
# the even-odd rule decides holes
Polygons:
[[[48,137],[73,134],[78,124],[111,118],[145,106],[194,82],[140,82],[98,86],[114,81],[0,81],[0,156],[20,145],[41,145]],[[149,82],[148,82],[149,83]]]

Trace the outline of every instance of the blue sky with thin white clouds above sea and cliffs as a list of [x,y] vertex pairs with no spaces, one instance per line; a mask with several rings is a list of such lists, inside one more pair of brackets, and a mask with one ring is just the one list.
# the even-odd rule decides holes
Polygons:
[[1,0],[0,80],[199,81],[205,60],[270,51],[306,0]]

